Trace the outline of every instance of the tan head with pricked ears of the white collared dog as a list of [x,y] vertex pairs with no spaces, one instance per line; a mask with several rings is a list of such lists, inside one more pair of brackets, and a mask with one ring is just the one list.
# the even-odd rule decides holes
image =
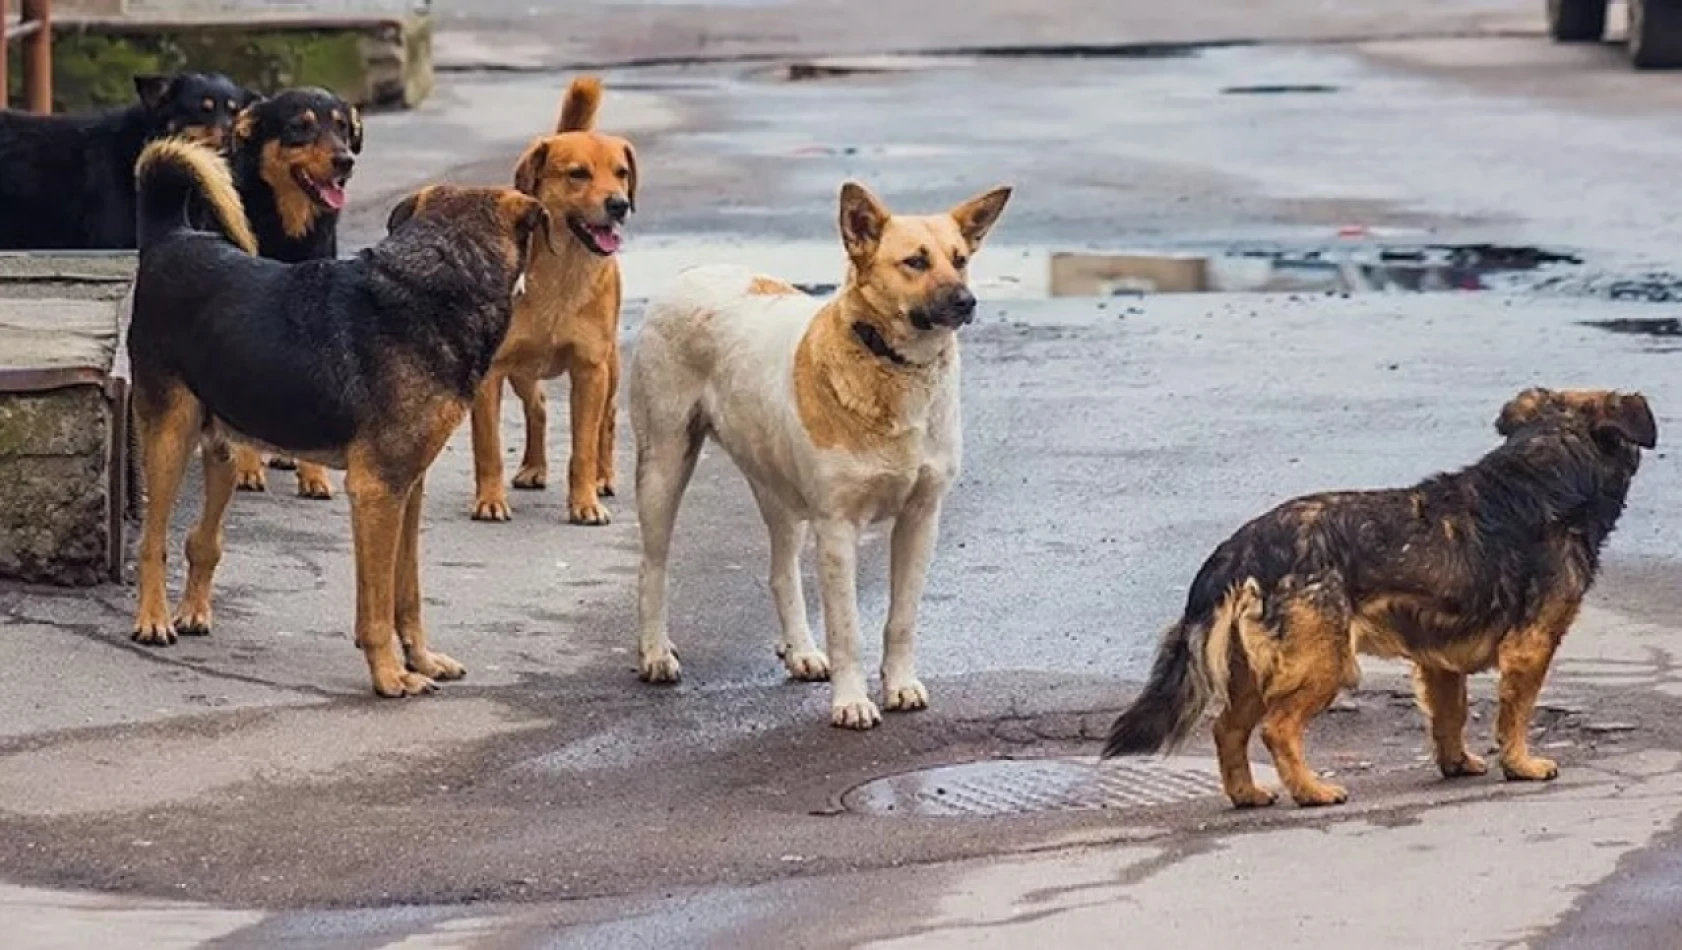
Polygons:
[[848,293],[883,326],[886,341],[950,333],[976,318],[969,261],[999,220],[1009,188],[977,195],[947,214],[893,215],[863,185],[841,187],[841,245]]

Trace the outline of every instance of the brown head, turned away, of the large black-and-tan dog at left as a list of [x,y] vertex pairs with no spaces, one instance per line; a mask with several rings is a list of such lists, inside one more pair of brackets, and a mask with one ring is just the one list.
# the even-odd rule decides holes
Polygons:
[[410,222],[437,227],[452,244],[476,244],[491,251],[506,279],[510,299],[525,293],[526,271],[537,242],[553,249],[548,210],[532,195],[511,188],[463,188],[431,185],[409,195],[385,220],[395,235]]

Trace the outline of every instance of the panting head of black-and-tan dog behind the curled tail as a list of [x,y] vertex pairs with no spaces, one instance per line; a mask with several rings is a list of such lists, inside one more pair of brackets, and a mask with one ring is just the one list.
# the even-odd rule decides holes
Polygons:
[[362,114],[326,89],[286,89],[247,106],[234,123],[235,160],[256,156],[281,224],[301,237],[320,214],[345,208],[362,153]]

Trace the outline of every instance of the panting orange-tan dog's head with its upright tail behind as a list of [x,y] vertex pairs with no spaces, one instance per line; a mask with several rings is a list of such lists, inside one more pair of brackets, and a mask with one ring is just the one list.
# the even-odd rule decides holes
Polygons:
[[555,135],[533,141],[520,156],[515,188],[543,202],[579,247],[611,257],[622,242],[619,229],[636,210],[636,150],[595,131],[600,103],[599,79],[574,79]]

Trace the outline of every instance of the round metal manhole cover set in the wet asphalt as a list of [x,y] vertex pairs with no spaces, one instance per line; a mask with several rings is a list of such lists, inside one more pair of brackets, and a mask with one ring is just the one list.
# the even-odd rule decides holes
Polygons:
[[[1277,780],[1272,768],[1251,768],[1263,785]],[[1219,794],[1221,773],[1208,758],[1103,763],[1087,758],[1013,758],[888,775],[849,790],[841,804],[870,815],[1019,815],[1140,809]]]

